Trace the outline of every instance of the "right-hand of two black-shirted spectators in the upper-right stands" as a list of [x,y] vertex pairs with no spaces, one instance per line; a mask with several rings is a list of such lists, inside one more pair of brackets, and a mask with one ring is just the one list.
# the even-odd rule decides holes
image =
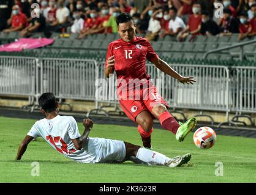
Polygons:
[[220,26],[222,36],[230,36],[234,33],[239,33],[239,23],[236,18],[232,17],[232,12],[230,9],[224,9],[224,19],[222,21],[222,26]]

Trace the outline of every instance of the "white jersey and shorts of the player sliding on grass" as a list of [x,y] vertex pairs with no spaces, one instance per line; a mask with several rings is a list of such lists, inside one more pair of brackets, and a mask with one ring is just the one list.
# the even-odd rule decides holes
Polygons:
[[72,139],[81,135],[72,116],[58,115],[53,119],[41,119],[32,126],[27,135],[42,137],[56,151],[81,163],[122,161],[125,157],[123,141],[89,138],[81,150],[76,149]]

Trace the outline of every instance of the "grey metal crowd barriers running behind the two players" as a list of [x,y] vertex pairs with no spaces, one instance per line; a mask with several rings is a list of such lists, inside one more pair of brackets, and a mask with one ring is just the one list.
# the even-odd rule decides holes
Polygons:
[[[183,85],[156,66],[147,64],[152,82],[170,108],[189,108],[200,114],[206,110],[225,112],[226,121],[230,121],[230,113],[235,113],[234,122],[239,116],[250,118],[251,113],[256,113],[256,67],[171,67],[183,76],[194,76],[197,82]],[[59,99],[94,101],[95,109],[88,115],[100,111],[110,115],[105,107],[113,107],[113,112],[121,113],[116,98],[116,76],[106,79],[104,68],[105,63],[95,60],[0,57],[0,95],[21,95],[37,100],[40,94],[51,91]],[[252,118],[250,121],[254,123]]]

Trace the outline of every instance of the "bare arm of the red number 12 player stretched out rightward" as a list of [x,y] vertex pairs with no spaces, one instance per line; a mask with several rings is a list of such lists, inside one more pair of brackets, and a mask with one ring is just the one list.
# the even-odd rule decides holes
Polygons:
[[181,83],[187,83],[192,84],[196,82],[194,80],[194,77],[184,77],[181,76],[179,73],[177,73],[174,69],[172,69],[164,60],[161,60],[160,58],[155,58],[151,61],[154,63],[154,65],[160,69],[160,71],[163,71],[165,74],[168,74],[169,76],[179,80]]

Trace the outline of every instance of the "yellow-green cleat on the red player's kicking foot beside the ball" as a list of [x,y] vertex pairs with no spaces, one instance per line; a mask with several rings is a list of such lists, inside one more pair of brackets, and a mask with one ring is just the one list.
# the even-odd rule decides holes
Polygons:
[[179,122],[180,127],[176,133],[176,140],[183,141],[187,134],[195,128],[196,124],[197,119],[195,119],[195,117],[188,119],[184,124]]

